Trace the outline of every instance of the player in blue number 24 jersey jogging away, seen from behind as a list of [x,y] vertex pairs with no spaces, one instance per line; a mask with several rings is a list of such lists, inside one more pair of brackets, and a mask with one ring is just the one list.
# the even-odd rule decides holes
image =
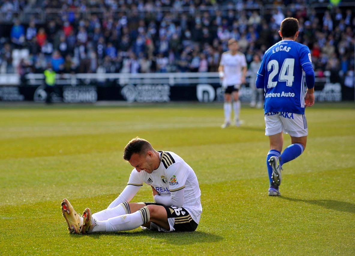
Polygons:
[[[307,143],[305,107],[314,104],[314,71],[307,46],[297,43],[298,20],[285,18],[280,25],[282,41],[264,54],[257,73],[256,87],[264,88],[265,135],[269,136],[267,154],[270,187],[269,196],[280,196],[282,165],[302,154]],[[305,94],[305,71],[307,91]],[[281,154],[283,132],[291,136],[289,145]]]

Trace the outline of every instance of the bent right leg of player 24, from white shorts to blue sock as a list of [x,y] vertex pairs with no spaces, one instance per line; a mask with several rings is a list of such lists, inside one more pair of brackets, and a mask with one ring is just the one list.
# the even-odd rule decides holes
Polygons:
[[305,115],[287,114],[281,117],[285,132],[291,136],[291,145],[289,145],[281,154],[280,165],[289,162],[302,154],[307,143],[307,121]]

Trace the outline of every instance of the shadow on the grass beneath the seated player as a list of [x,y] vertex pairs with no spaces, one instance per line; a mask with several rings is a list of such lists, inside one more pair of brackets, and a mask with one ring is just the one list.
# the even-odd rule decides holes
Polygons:
[[200,244],[203,242],[218,242],[223,239],[222,236],[206,233],[203,231],[193,232],[160,232],[152,230],[132,230],[132,231],[119,231],[110,233],[94,233],[91,234],[93,238],[100,236],[124,236],[125,238],[141,240],[142,237],[149,239],[157,239],[167,244]]

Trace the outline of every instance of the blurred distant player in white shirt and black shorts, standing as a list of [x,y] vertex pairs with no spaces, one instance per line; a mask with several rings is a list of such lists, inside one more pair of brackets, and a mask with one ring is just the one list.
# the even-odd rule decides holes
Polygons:
[[222,124],[222,128],[226,128],[231,124],[232,96],[234,122],[237,127],[240,126],[239,89],[240,85],[245,83],[247,72],[246,58],[243,53],[238,51],[238,42],[235,39],[229,39],[228,48],[229,51],[222,54],[218,68],[219,78],[222,80],[224,90],[224,124]]

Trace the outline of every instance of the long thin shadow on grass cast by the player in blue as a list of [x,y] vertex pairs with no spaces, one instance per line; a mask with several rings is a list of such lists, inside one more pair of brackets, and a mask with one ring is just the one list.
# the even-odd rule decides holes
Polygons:
[[297,198],[290,198],[290,197],[280,197],[282,199],[286,199],[289,201],[293,202],[305,202],[305,203],[310,203],[310,204],[316,204],[318,206],[322,206],[324,208],[330,209],[330,210],[338,210],[340,212],[349,212],[349,213],[355,213],[355,204],[353,203],[347,203],[347,202],[341,202],[337,200],[305,200],[305,199],[297,199]]

